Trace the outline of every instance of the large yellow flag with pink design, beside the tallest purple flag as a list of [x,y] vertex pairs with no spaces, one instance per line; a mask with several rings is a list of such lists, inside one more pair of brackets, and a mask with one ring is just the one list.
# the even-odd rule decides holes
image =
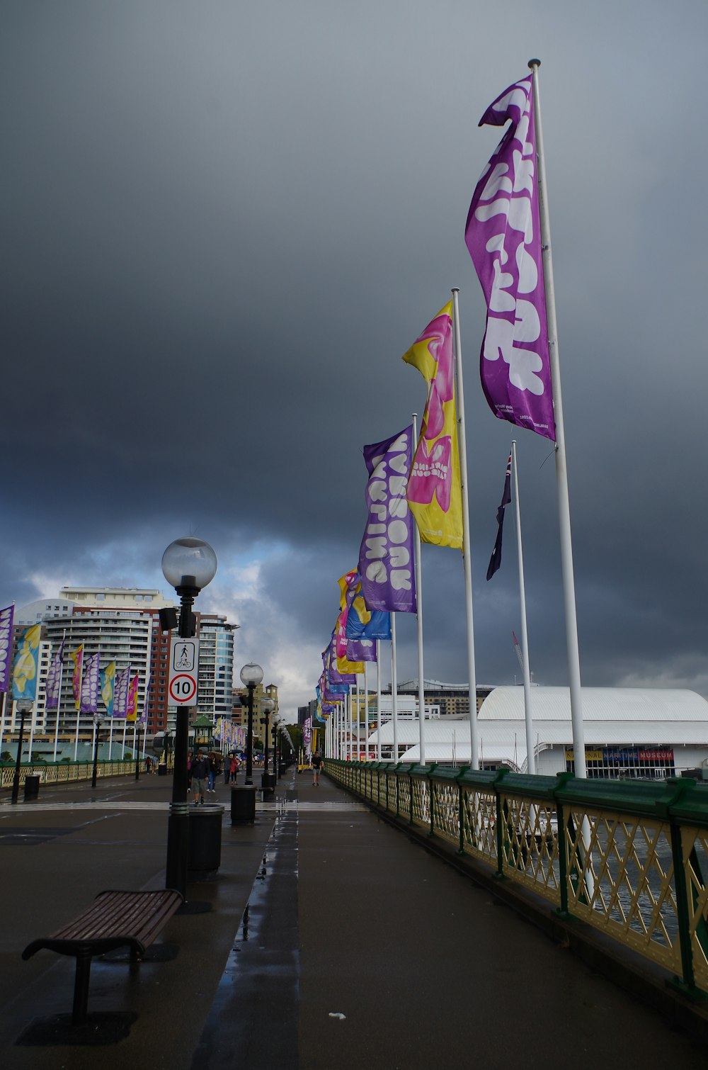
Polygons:
[[452,302],[402,357],[428,383],[428,401],[409,476],[407,502],[420,539],[462,549],[462,490],[455,407]]

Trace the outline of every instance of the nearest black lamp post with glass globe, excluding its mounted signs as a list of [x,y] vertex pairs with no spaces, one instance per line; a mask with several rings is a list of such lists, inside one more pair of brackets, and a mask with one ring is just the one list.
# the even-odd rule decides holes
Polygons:
[[[197,632],[197,618],[191,612],[195,598],[216,576],[216,554],[200,538],[175,539],[163,554],[163,572],[180,596],[180,639],[190,639]],[[178,706],[174,731],[174,769],[172,801],[167,825],[167,866],[165,886],[186,895],[187,842],[189,805],[187,802],[187,755],[189,750],[189,712]]]

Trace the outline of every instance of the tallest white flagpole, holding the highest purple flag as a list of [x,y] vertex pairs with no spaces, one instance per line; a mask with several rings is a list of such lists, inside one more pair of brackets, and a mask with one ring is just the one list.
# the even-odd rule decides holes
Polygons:
[[555,315],[555,290],[553,286],[553,261],[551,257],[551,226],[549,223],[548,193],[545,183],[545,157],[543,155],[543,133],[541,127],[541,102],[538,89],[540,60],[529,60],[534,76],[534,114],[536,127],[536,157],[538,162],[538,199],[541,223],[541,248],[543,250],[543,279],[545,281],[545,315],[549,328],[549,354],[551,360],[551,382],[553,385],[553,411],[555,419],[555,471],[558,490],[558,520],[560,525],[560,566],[566,609],[566,642],[568,646],[568,676],[570,683],[570,719],[573,731],[573,755],[576,777],[587,777],[585,763],[585,727],[583,724],[583,700],[580,681],[580,647],[578,643],[578,612],[575,609],[575,579],[573,574],[573,550],[570,534],[570,502],[568,498],[568,470],[566,465],[566,433],[563,422],[563,400],[560,397],[560,365],[558,361],[558,326]]

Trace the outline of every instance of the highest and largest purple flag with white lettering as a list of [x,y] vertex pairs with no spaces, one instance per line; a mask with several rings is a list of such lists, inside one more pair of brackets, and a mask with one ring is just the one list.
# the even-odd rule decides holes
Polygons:
[[487,300],[482,389],[499,419],[555,441],[532,75],[497,96],[479,125],[508,120],[473,194],[464,232]]

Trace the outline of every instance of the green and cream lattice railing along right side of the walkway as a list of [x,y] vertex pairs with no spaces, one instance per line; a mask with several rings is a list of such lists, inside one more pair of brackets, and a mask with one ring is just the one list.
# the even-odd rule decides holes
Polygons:
[[708,998],[708,786],[334,759],[325,770]]

